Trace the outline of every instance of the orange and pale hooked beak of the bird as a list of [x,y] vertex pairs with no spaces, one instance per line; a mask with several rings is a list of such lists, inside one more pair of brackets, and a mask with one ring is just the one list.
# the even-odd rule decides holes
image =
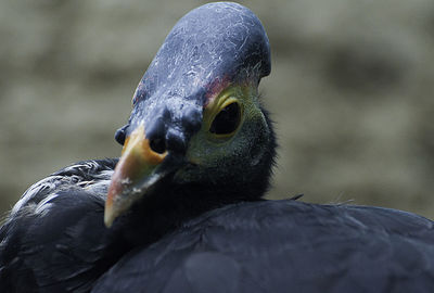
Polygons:
[[144,137],[144,126],[137,127],[127,137],[122,156],[112,176],[105,201],[104,222],[113,221],[129,209],[132,203],[149,195],[163,178],[179,168],[179,160],[164,153],[156,153]]

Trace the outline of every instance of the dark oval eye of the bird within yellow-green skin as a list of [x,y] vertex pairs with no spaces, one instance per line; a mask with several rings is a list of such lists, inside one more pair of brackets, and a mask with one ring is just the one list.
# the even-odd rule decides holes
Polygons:
[[235,131],[240,124],[240,105],[231,103],[224,107],[214,118],[209,131],[216,135],[228,135]]

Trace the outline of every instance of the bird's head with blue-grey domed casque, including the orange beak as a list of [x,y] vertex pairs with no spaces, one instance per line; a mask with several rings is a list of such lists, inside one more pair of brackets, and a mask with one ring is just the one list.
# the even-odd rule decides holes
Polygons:
[[[275,139],[258,99],[270,73],[267,35],[237,3],[209,3],[171,29],[132,98],[104,221],[150,196],[188,189],[233,201],[268,187]],[[164,192],[163,192],[164,190]],[[191,191],[193,192],[193,191]]]

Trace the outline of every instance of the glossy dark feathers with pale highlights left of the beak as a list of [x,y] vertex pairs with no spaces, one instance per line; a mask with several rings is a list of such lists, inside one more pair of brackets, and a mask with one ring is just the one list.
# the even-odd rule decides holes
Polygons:
[[116,160],[80,162],[34,184],[0,229],[0,292],[88,292],[127,250],[103,224]]

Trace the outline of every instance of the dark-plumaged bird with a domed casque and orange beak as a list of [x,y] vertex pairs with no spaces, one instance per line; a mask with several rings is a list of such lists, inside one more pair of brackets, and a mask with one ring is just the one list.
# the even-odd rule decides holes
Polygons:
[[178,21],[115,133],[119,158],[31,186],[0,228],[0,292],[434,292],[433,221],[263,199],[277,161],[258,17]]

